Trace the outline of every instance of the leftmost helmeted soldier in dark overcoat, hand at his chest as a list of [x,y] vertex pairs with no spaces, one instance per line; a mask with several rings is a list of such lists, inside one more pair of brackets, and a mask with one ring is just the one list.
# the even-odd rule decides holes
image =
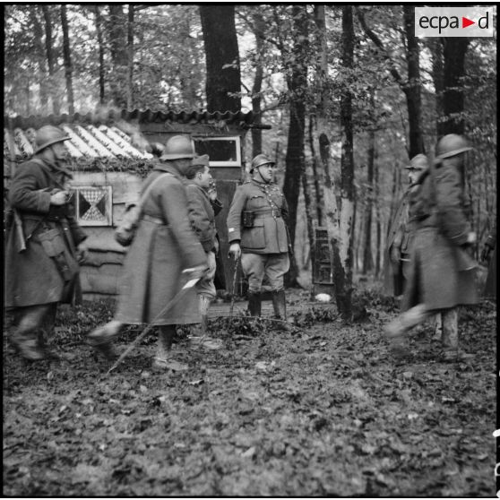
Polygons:
[[87,251],[67,190],[68,139],[42,126],[35,156],[17,168],[9,194],[15,226],[7,234],[5,306],[14,310],[13,345],[31,361],[56,356],[44,335],[52,335],[57,303],[72,302]]

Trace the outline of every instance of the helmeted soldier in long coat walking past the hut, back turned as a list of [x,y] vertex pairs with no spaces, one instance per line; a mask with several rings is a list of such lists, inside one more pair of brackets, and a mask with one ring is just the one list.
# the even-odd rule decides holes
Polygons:
[[150,185],[151,189],[125,258],[115,318],[88,335],[91,345],[107,358],[114,357],[112,340],[125,324],[154,323],[159,339],[153,368],[178,369],[182,363],[173,360],[171,352],[176,325],[201,321],[194,288],[165,309],[187,280],[202,277],[208,268],[188,216],[185,173],[193,158],[191,139],[174,135],[142,186],[142,192]]

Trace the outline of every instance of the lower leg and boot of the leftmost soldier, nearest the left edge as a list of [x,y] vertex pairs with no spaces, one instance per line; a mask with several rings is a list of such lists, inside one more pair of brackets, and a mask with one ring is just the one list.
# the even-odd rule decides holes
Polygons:
[[36,361],[45,357],[39,346],[39,329],[44,318],[56,303],[22,307],[18,311],[18,324],[13,332],[13,345],[22,358]]

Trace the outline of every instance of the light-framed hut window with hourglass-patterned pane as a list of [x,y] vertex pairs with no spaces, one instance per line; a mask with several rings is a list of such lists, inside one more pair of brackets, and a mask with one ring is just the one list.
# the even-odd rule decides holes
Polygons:
[[110,185],[79,185],[73,188],[76,219],[81,226],[113,224],[112,187]]

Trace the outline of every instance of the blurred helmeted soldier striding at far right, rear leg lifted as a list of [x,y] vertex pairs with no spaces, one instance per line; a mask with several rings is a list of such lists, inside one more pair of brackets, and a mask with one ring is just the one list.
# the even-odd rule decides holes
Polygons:
[[445,361],[470,358],[459,349],[457,306],[478,302],[477,263],[469,254],[476,235],[470,228],[463,192],[464,157],[470,149],[461,135],[444,135],[435,148],[435,163],[419,178],[404,312],[385,327],[388,337],[399,338],[441,313]]

